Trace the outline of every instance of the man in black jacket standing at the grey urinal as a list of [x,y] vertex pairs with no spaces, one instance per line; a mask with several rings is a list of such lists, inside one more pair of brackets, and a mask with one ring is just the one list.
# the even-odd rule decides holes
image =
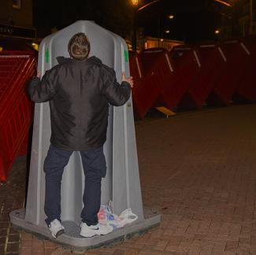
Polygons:
[[109,103],[124,105],[133,80],[123,73],[121,84],[117,83],[112,68],[97,57],[88,57],[90,42],[83,33],[72,36],[68,50],[71,58],[58,57],[58,65],[46,71],[42,80],[38,74],[28,86],[32,101],[50,103],[50,148],[44,162],[46,224],[54,238],[65,231],[61,224],[61,178],[72,152],[80,151],[85,175],[80,235],[106,235],[113,228],[98,224],[97,214],[101,180],[106,176],[103,144]]

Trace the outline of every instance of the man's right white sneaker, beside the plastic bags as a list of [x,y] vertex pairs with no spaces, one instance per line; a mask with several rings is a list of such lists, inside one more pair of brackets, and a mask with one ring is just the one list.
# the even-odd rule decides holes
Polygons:
[[83,237],[92,237],[95,235],[107,235],[113,231],[113,227],[102,225],[102,224],[87,226],[86,223],[82,223],[80,227],[81,227],[80,235]]

